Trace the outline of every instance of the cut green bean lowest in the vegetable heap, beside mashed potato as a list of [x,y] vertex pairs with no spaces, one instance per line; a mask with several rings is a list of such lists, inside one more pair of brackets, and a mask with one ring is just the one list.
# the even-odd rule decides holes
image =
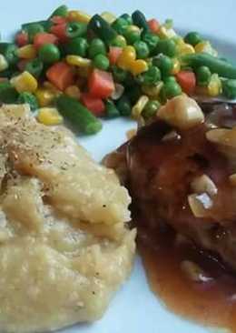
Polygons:
[[56,100],[59,112],[86,135],[95,134],[102,129],[101,121],[75,98],[61,95]]

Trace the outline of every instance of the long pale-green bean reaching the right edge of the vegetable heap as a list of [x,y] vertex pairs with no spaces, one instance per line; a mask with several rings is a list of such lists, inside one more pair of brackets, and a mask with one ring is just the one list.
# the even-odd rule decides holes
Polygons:
[[221,77],[236,79],[236,66],[206,53],[182,55],[182,64],[192,68],[207,66],[211,73],[216,73]]

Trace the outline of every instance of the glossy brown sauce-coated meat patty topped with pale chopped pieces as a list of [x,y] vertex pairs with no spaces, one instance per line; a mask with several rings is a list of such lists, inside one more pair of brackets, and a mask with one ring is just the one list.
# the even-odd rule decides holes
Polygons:
[[236,269],[236,130],[226,128],[235,116],[228,106],[207,111],[203,121],[186,128],[173,114],[157,117],[120,155],[135,220],[152,234],[170,225]]

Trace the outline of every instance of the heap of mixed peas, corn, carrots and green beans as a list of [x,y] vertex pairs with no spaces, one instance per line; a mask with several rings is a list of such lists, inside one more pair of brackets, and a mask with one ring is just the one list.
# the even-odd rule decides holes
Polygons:
[[182,93],[236,98],[236,66],[202,35],[183,38],[172,20],[139,10],[90,16],[61,5],[0,43],[0,102],[28,103],[45,125],[66,118],[94,134],[100,117],[147,119]]

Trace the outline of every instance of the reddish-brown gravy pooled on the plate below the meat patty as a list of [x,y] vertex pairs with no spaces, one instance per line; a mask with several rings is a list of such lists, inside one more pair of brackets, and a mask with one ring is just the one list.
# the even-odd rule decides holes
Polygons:
[[[236,332],[236,277],[216,257],[202,253],[190,243],[176,245],[172,230],[153,239],[139,230],[139,249],[152,291],[173,312],[209,327]],[[194,282],[182,271],[190,260],[212,279]]]

